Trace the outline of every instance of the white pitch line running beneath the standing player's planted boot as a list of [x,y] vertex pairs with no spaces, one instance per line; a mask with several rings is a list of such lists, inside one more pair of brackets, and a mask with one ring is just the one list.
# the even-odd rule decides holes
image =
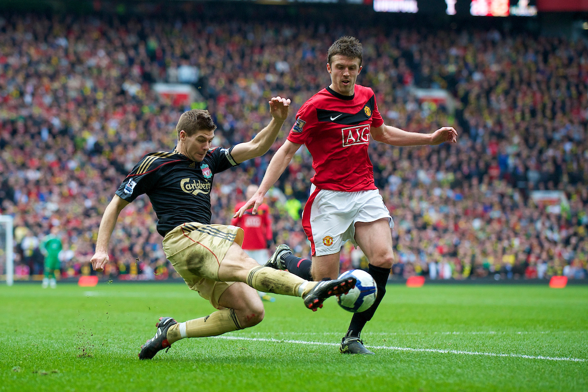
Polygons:
[[[226,340],[269,341],[269,342],[273,342],[273,343],[312,344],[313,346],[339,346],[339,343],[326,343],[324,341],[287,340],[287,339],[273,339],[273,338],[265,338],[265,337],[243,337],[243,336],[211,336],[211,337],[214,339],[226,339]],[[588,360],[582,359],[582,358],[544,357],[544,356],[532,356],[532,355],[524,355],[524,354],[479,353],[478,351],[413,349],[411,347],[393,347],[393,346],[366,346],[366,347],[368,347],[369,349],[382,349],[382,350],[393,350],[393,351],[413,351],[413,352],[418,352],[418,353],[481,355],[481,356],[486,356],[486,357],[543,359],[543,360],[548,360],[548,361],[572,361],[572,362],[586,362],[586,361],[588,361]]]

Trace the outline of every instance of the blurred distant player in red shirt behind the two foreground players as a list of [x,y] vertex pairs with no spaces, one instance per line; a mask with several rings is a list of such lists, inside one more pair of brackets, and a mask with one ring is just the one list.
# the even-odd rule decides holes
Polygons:
[[[245,197],[247,199],[253,197],[258,188],[255,184],[249,185],[245,191]],[[245,205],[245,202],[237,203],[235,212],[243,205]],[[230,224],[239,226],[245,232],[243,245],[241,246],[245,250],[245,253],[258,262],[259,265],[264,265],[269,258],[268,249],[273,243],[272,216],[269,213],[269,206],[266,203],[262,203],[256,215],[253,215],[251,210],[247,210],[242,216],[233,217]],[[276,300],[268,293],[258,291],[258,294],[262,300],[270,302]]]

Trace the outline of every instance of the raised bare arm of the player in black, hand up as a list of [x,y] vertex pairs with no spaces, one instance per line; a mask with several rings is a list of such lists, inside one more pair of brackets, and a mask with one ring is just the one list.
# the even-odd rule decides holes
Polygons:
[[272,120],[268,126],[255,135],[255,138],[249,140],[249,142],[239,143],[233,148],[230,155],[233,156],[235,162],[245,162],[268,152],[273,142],[276,141],[284,121],[288,118],[289,107],[290,100],[286,98],[277,96],[269,101],[269,113],[272,115]]

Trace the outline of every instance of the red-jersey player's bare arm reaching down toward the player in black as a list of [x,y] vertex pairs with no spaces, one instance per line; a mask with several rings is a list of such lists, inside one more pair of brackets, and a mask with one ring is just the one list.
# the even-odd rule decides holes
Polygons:
[[[250,209],[253,206],[253,210],[251,211],[253,214],[257,213],[257,210],[261,203],[263,203],[263,196],[265,193],[268,192],[268,189],[272,187],[272,185],[279,179],[282,175],[292,157],[300,148],[299,144],[292,143],[290,140],[286,140],[286,142],[276,151],[273,155],[272,160],[270,160],[268,169],[265,171],[265,175],[263,176],[263,180],[261,185],[259,185],[259,189],[255,192],[255,195],[248,200],[245,205],[240,207],[240,209],[233,215],[233,217],[241,217],[246,210]],[[234,151],[235,149],[233,149]]]

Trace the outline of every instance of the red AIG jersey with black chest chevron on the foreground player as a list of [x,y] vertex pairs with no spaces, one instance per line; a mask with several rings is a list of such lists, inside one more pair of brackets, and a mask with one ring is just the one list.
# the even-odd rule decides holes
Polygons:
[[368,146],[372,126],[383,123],[372,89],[355,85],[346,96],[325,88],[298,110],[288,140],[308,148],[316,172],[310,182],[318,189],[377,189]]

